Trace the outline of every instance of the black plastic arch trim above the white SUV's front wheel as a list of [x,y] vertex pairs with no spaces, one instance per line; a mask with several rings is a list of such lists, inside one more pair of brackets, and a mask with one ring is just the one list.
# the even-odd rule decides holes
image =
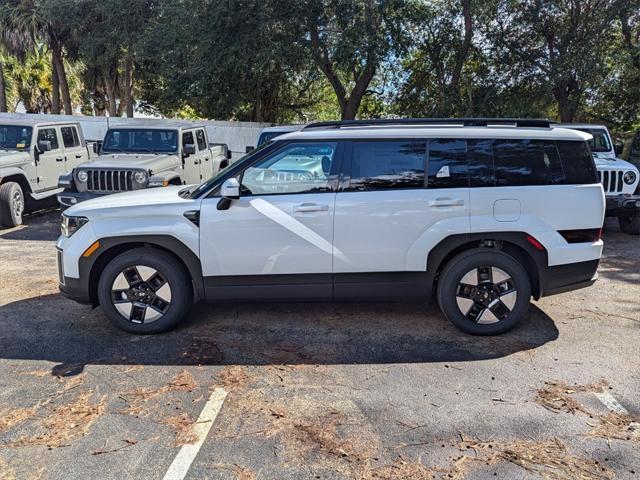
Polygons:
[[80,278],[87,279],[87,292],[94,306],[98,301],[100,272],[115,257],[134,248],[156,248],[171,255],[184,267],[191,279],[194,301],[204,297],[202,267],[197,255],[184,243],[168,235],[109,237],[99,240],[97,255],[80,259]]

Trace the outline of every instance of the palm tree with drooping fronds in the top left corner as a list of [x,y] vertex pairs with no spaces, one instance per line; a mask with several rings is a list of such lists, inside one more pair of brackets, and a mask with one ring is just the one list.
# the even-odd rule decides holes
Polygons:
[[51,110],[60,113],[60,95],[64,111],[73,113],[69,82],[63,62],[62,36],[59,30],[43,15],[40,4],[35,0],[3,0],[0,7],[0,24],[7,24],[20,35],[28,36],[31,45],[38,39],[45,41],[51,51]]

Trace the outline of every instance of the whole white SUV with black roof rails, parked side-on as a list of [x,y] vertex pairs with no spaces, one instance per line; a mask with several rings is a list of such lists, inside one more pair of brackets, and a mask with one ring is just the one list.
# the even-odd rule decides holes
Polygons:
[[311,124],[197,187],[69,208],[60,289],[155,333],[198,300],[426,300],[497,334],[591,285],[605,201],[590,135],[540,120]]

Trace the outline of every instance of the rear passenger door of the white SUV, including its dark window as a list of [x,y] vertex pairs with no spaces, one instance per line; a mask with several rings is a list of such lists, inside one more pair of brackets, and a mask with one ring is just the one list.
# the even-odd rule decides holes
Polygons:
[[428,294],[414,280],[429,250],[469,232],[465,154],[455,139],[351,142],[335,207],[336,298]]

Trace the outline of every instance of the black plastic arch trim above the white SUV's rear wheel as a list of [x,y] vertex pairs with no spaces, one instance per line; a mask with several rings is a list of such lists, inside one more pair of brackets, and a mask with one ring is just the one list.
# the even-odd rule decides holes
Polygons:
[[473,248],[492,248],[503,251],[524,265],[531,282],[531,293],[538,300],[542,296],[542,272],[548,265],[547,252],[537,249],[527,240],[525,232],[486,232],[451,235],[438,243],[427,256],[430,284],[435,287],[440,272],[456,255]]

